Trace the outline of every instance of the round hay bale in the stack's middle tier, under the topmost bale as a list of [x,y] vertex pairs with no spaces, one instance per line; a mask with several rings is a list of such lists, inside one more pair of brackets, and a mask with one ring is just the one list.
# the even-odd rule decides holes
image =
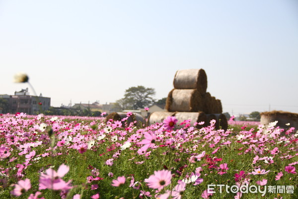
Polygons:
[[196,89],[173,89],[166,100],[165,109],[169,112],[203,111],[204,101]]

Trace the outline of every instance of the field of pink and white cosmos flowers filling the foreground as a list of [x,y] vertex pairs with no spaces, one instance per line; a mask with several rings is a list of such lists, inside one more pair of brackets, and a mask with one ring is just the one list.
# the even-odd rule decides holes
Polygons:
[[127,118],[1,115],[0,199],[298,199],[294,128]]

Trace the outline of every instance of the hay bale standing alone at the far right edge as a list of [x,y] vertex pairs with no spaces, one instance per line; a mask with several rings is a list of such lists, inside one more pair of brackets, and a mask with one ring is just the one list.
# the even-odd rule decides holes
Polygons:
[[[270,112],[261,112],[260,115],[260,123],[263,125],[268,126],[270,122],[278,121],[276,126],[281,128],[294,127],[295,129],[298,129],[298,113],[273,110]],[[290,125],[286,125],[287,123],[290,123]]]

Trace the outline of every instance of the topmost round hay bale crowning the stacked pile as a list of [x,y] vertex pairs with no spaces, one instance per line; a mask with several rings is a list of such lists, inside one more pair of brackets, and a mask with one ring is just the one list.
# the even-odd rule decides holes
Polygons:
[[203,69],[179,70],[174,77],[175,89],[197,89],[201,94],[207,90],[207,75]]

